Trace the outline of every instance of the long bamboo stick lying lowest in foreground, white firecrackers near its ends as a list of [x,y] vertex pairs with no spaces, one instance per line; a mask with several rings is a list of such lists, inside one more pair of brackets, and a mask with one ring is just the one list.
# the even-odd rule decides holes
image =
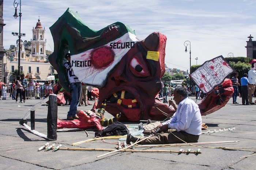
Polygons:
[[125,149],[125,150],[116,150],[116,149],[108,149],[108,148],[60,148],[59,150],[80,150],[80,151],[121,151],[121,152],[146,152],[146,153],[194,153],[201,154],[201,151],[175,151],[175,150],[133,150],[133,149]]

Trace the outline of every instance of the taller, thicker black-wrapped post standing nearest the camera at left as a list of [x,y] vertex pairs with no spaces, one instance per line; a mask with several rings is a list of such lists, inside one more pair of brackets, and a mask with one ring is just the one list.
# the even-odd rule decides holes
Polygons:
[[57,95],[49,95],[49,106],[47,115],[47,138],[49,140],[57,140]]

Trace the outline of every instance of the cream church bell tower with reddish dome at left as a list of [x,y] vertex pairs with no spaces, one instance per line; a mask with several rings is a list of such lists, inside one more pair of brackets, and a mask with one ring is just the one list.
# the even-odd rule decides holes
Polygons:
[[45,28],[43,29],[40,20],[38,19],[37,26],[33,27],[33,39],[31,40],[31,54],[35,58],[35,61],[45,62]]

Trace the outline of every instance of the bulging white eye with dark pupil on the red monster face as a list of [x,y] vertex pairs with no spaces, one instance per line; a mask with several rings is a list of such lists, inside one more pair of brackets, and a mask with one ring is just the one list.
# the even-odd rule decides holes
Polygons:
[[150,72],[148,71],[148,67],[146,63],[141,62],[137,56],[133,57],[129,64],[129,68],[133,75],[138,77],[147,77],[150,76]]

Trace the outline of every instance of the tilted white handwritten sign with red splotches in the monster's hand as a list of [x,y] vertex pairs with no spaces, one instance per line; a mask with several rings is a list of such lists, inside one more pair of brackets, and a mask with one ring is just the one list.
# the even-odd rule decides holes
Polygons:
[[234,68],[221,55],[205,62],[189,77],[205,94],[221,84],[233,72],[235,72]]

